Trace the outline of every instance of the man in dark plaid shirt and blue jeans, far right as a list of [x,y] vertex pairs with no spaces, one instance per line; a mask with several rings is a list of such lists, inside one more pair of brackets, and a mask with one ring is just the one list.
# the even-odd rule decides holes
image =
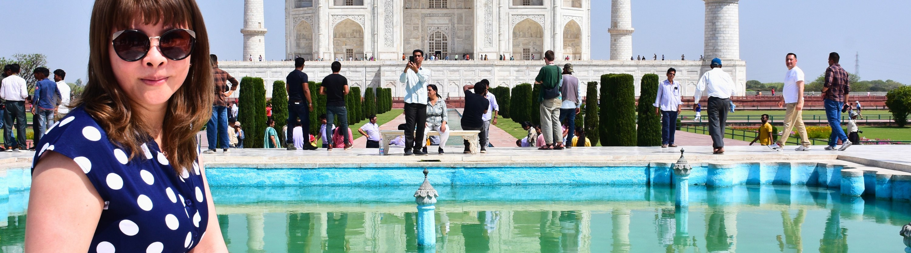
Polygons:
[[[848,92],[851,91],[851,86],[848,84],[848,72],[838,65],[838,58],[838,53],[830,53],[829,67],[825,69],[823,101],[825,116],[829,120],[829,127],[832,128],[829,147],[825,147],[825,150],[844,150],[851,147],[852,144],[848,140],[848,136],[844,134],[841,122],[842,106],[848,102]],[[842,147],[835,148],[839,139],[842,140]]]

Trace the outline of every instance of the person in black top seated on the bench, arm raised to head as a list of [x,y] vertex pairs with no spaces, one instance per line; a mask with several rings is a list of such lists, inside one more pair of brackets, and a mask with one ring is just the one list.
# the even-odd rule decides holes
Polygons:
[[[484,120],[481,119],[487,113],[487,106],[490,106],[490,101],[484,97],[487,93],[487,86],[489,82],[487,79],[477,82],[474,86],[468,85],[462,88],[465,91],[465,110],[462,112],[462,130],[478,130],[481,133],[478,134],[478,137],[483,136],[484,133]],[[475,89],[475,92],[471,92],[471,89]],[[480,145],[480,143],[478,143]],[[465,154],[471,153],[471,144],[468,143],[468,140],[465,141]]]

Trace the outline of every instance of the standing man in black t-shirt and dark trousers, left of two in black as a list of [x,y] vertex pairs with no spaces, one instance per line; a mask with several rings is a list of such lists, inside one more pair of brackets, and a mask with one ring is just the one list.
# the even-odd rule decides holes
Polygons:
[[[301,128],[303,129],[303,136],[310,136],[310,112],[313,111],[313,103],[310,98],[310,85],[309,78],[306,73],[303,73],[303,58],[297,57],[294,59],[294,71],[291,74],[288,74],[285,77],[285,90],[288,91],[288,126],[294,126],[297,123],[297,120],[301,119]],[[304,101],[303,99],[307,100]],[[293,131],[288,131],[285,133],[285,147],[288,150],[297,149],[294,147],[294,138],[292,137]],[[314,150],[317,147],[313,146],[309,141],[303,143],[303,149]]]

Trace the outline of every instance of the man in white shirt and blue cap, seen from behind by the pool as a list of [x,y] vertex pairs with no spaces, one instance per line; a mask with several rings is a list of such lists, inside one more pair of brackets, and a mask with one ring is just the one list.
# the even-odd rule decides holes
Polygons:
[[734,81],[731,75],[722,70],[722,59],[711,59],[711,70],[706,71],[696,84],[693,94],[693,108],[699,104],[702,92],[709,96],[709,136],[711,152],[724,154],[724,125],[731,109],[731,96],[734,95]]

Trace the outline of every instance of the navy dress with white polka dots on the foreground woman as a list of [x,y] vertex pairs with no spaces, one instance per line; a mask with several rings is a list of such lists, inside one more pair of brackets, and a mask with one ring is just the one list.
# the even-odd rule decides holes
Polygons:
[[47,129],[37,147],[36,161],[47,150],[76,161],[104,200],[88,252],[187,252],[206,231],[209,199],[199,165],[178,175],[155,141],[130,160],[78,107]]

